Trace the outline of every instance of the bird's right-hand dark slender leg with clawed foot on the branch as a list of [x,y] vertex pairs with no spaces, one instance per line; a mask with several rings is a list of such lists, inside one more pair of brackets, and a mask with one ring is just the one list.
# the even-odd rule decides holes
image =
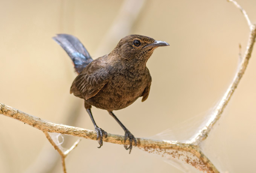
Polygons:
[[[127,147],[127,145],[125,144],[124,147],[126,150],[130,149],[129,154],[131,153],[131,149],[133,148],[133,141],[135,146],[137,145],[137,141],[134,138],[133,134],[131,134],[131,132],[121,123],[120,120],[118,120],[118,118],[116,117],[116,115],[113,114],[112,111],[108,111],[108,113],[117,121],[117,123],[123,128],[123,130],[125,131],[125,141],[127,138],[129,138],[129,142],[130,142],[130,146]],[[124,141],[124,143],[125,143]]]

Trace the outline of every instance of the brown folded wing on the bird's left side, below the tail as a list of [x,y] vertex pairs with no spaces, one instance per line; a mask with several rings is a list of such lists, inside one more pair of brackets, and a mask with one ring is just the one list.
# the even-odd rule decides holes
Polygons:
[[90,99],[107,84],[108,76],[107,66],[104,65],[101,58],[98,58],[76,77],[70,88],[70,93],[85,100]]

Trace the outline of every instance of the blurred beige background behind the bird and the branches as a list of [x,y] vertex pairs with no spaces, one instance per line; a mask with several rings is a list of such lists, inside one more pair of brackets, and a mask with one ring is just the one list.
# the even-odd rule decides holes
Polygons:
[[[238,0],[251,21],[256,1]],[[56,33],[78,37],[93,59],[108,54],[123,36],[140,34],[168,42],[147,63],[149,98],[115,114],[135,137],[188,139],[226,91],[246,48],[249,28],[226,0],[8,0],[0,1],[0,102],[55,123],[94,129],[83,100],[69,94],[76,73]],[[253,173],[256,142],[256,49],[209,138],[208,158],[223,172]],[[124,135],[107,111],[93,108],[99,127]],[[164,131],[164,132],[163,132]],[[161,135],[156,135],[163,132]],[[64,146],[75,137],[65,138]],[[69,173],[172,172],[166,159],[134,147],[82,139],[66,159]],[[169,162],[167,160],[167,162]],[[0,168],[3,173],[62,172],[61,160],[45,135],[0,115]]]

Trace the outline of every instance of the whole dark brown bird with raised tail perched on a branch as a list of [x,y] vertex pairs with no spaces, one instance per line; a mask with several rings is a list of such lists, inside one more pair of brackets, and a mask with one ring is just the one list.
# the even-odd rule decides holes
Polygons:
[[67,52],[73,61],[78,76],[73,81],[70,94],[84,99],[100,148],[107,132],[95,122],[91,107],[105,109],[125,131],[124,144],[129,140],[126,150],[131,153],[134,135],[121,123],[113,113],[126,108],[142,97],[144,102],[149,95],[151,75],[146,62],[153,51],[160,46],[169,46],[165,41],[156,41],[143,35],[128,35],[120,39],[117,46],[107,55],[93,60],[81,41],[73,35],[57,34],[53,39]]

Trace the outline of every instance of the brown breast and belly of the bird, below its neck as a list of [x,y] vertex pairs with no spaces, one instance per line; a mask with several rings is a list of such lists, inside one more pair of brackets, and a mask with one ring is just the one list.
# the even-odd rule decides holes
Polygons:
[[145,73],[116,73],[99,93],[87,102],[97,108],[111,111],[123,109],[142,95],[147,84],[148,76]]

